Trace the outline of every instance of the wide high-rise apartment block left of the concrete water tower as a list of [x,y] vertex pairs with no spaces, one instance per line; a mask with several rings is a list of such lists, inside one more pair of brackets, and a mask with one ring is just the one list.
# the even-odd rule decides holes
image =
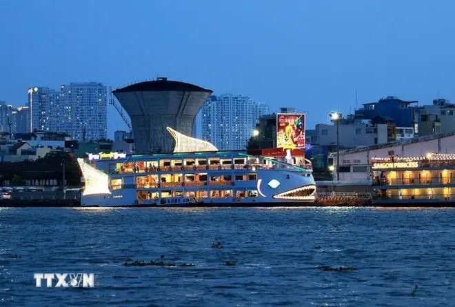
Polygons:
[[62,85],[59,92],[46,87],[28,90],[29,132],[63,132],[88,141],[106,138],[107,89],[97,82]]

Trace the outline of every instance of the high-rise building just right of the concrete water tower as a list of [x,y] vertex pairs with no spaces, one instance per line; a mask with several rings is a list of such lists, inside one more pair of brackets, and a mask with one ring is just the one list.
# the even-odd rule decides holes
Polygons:
[[245,149],[256,121],[269,113],[264,103],[242,95],[212,95],[203,104],[202,138],[219,150]]

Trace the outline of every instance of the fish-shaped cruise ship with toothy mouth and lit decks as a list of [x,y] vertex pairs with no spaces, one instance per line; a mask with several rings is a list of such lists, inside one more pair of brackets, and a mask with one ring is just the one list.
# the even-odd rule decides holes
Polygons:
[[[172,153],[89,154],[78,159],[81,206],[308,206],[316,185],[304,157],[220,151],[167,128]],[[282,160],[282,161],[281,161]]]

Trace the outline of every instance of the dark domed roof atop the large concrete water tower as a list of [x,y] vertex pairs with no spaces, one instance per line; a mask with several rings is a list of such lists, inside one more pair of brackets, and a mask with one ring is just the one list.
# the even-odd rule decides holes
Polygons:
[[180,82],[180,81],[170,81],[168,78],[160,77],[152,81],[143,81],[139,83],[131,84],[130,86],[125,86],[124,88],[117,88],[112,92],[115,94],[117,92],[162,92],[162,91],[179,91],[179,92],[213,92],[194,84]]

